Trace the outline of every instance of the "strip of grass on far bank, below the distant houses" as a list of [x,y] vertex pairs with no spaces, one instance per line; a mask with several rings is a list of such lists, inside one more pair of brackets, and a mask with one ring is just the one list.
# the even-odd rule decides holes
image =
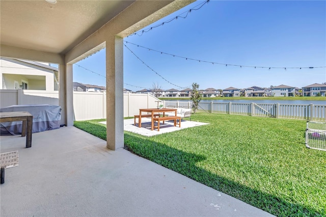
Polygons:
[[[159,98],[160,100],[189,100],[190,98]],[[296,96],[296,97],[284,97],[284,96],[270,96],[270,97],[201,97],[201,100],[326,100],[324,96]]]

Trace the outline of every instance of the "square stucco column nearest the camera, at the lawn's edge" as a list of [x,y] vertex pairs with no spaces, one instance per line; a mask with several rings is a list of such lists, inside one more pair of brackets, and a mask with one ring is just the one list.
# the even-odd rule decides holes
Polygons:
[[123,38],[117,36],[106,40],[106,147],[124,147]]

